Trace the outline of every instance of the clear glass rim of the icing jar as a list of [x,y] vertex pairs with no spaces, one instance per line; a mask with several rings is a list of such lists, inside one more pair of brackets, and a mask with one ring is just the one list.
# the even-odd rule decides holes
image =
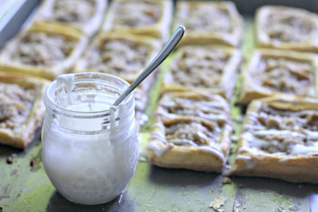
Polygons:
[[[103,78],[105,79],[114,79],[117,80],[119,83],[121,83],[123,85],[123,88],[120,90],[121,93],[123,93],[127,87],[129,86],[129,83],[117,76],[111,75],[111,74],[106,74],[106,73],[100,73],[100,72],[82,72],[82,73],[69,73],[69,74],[65,74],[65,75],[74,75],[74,83],[79,83],[83,80],[85,80],[85,82],[91,82],[93,83],[93,80],[99,80],[99,81],[104,81],[107,82],[106,80],[103,80]],[[96,76],[100,76],[101,78],[96,78]],[[95,77],[95,78],[94,78]],[[90,81],[92,80],[92,81]],[[74,111],[74,110],[69,110],[65,107],[60,106],[59,104],[57,104],[55,102],[55,100],[53,99],[53,97],[55,97],[55,90],[56,90],[56,84],[60,82],[60,80],[55,79],[45,90],[45,96],[44,96],[44,104],[45,106],[49,106],[51,109],[53,110],[58,110],[60,113],[64,113],[64,114],[68,114],[68,115],[75,115],[76,116],[100,116],[101,114],[105,114],[108,115],[110,108],[106,109],[106,110],[102,110],[102,111]],[[121,95],[121,94],[120,94]],[[131,92],[123,101],[121,104],[127,104],[129,101],[131,101],[131,99],[133,98],[133,92]],[[121,105],[120,104],[120,105]],[[117,109],[119,106],[116,106]]]

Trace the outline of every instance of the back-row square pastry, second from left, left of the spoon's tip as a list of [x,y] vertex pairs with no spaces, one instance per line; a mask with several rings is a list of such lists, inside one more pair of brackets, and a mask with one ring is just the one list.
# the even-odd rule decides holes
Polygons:
[[166,42],[172,10],[172,0],[114,0],[102,31],[148,35]]

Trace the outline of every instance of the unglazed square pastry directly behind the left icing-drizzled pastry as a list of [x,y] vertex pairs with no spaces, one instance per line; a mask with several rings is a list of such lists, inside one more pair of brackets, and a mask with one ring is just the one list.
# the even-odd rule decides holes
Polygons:
[[183,46],[171,58],[162,92],[203,90],[230,99],[241,63],[239,50],[228,46]]

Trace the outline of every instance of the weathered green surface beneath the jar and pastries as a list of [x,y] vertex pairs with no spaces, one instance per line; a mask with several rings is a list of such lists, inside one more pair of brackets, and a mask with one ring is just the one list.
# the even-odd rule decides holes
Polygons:
[[[246,37],[242,50],[248,56],[254,48],[252,24],[246,19]],[[160,84],[157,85],[160,88]],[[158,93],[151,95],[154,109]],[[234,120],[240,120],[240,110],[233,106]],[[151,120],[151,119],[150,119]],[[239,122],[233,122],[239,133]],[[148,125],[149,126],[149,125]],[[146,130],[148,131],[148,128]],[[149,133],[140,134],[141,153]],[[236,149],[233,144],[232,152]],[[12,154],[12,164],[6,158]],[[230,163],[233,162],[231,155]],[[30,165],[30,161],[35,161]],[[209,204],[216,197],[226,197],[225,211],[318,211],[318,186],[289,183],[258,177],[231,177],[223,184],[223,176],[182,169],[166,169],[139,162],[126,192],[116,200],[101,205],[78,205],[64,199],[47,178],[41,162],[39,140],[25,151],[0,145],[0,205],[3,211],[214,211]],[[245,209],[244,209],[245,208]]]

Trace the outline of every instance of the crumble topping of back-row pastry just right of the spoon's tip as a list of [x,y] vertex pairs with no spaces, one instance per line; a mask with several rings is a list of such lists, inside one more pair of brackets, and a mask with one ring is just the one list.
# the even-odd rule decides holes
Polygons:
[[201,4],[190,7],[187,14],[180,18],[189,31],[204,32],[225,32],[232,31],[230,14],[226,10],[218,9],[213,5]]

